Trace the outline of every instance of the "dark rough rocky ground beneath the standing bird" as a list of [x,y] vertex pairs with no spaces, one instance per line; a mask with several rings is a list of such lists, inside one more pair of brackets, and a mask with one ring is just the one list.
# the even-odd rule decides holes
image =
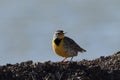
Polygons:
[[120,80],[120,52],[72,63],[6,64],[0,66],[0,80]]

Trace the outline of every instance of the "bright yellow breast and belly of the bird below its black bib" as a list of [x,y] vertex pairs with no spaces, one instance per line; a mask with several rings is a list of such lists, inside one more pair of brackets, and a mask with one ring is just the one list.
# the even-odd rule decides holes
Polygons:
[[57,55],[62,56],[62,57],[69,57],[69,53],[65,52],[63,45],[64,45],[63,40],[60,42],[59,45],[56,45],[54,43],[54,40],[52,41],[53,50]]

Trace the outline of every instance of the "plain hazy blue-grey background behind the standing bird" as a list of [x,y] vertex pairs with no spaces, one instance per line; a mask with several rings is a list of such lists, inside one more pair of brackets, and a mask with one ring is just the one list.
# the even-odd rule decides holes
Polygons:
[[87,50],[74,61],[112,55],[120,50],[120,0],[0,0],[0,65],[61,61],[51,47],[58,29]]

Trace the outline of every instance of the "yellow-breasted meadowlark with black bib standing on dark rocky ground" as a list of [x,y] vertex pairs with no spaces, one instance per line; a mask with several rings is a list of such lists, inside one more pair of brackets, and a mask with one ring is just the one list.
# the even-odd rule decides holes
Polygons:
[[78,52],[86,52],[86,50],[81,48],[74,40],[65,36],[63,30],[57,30],[54,33],[52,47],[57,55],[64,57],[62,62],[68,57],[71,57],[70,61],[72,61],[73,57],[78,55]]

